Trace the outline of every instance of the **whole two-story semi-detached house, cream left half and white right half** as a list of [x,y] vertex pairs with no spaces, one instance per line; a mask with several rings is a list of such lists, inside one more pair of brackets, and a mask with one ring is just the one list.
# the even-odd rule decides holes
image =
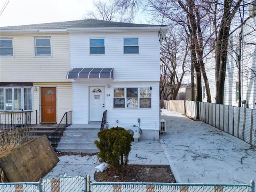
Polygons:
[[1,27],[1,111],[32,111],[36,123],[73,110],[73,124],[89,124],[107,110],[110,127],[136,125],[140,139],[158,139],[167,29],[94,19]]

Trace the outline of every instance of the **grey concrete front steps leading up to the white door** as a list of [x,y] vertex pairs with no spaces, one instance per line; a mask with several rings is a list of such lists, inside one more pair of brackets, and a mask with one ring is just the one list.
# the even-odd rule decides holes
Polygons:
[[99,140],[97,134],[100,132],[101,123],[72,124],[66,127],[63,136],[58,143],[58,152],[96,153],[99,152],[94,144]]

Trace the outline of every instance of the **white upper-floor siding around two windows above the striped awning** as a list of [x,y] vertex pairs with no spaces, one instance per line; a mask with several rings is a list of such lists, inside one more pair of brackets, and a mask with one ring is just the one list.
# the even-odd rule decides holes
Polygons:
[[[160,43],[155,33],[142,33],[140,54],[124,54],[123,39],[132,34],[96,34],[105,38],[105,54],[90,55],[90,34],[70,34],[70,68],[114,68],[114,82],[159,81]],[[138,38],[138,33],[134,33]]]

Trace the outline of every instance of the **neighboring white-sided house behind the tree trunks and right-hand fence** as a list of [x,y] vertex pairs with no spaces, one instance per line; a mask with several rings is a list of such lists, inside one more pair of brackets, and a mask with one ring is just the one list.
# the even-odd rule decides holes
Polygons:
[[[256,108],[256,3],[250,5],[250,16],[242,25],[230,33],[226,78],[224,84],[224,104],[238,106],[238,53],[241,49],[241,106]],[[241,47],[239,34],[242,31]],[[240,47],[240,48],[239,48]],[[214,63],[214,58],[206,60],[206,64]],[[210,66],[210,65],[207,65]],[[215,102],[215,72],[206,71],[210,84],[212,102]],[[212,74],[212,75],[210,75]],[[202,84],[202,93],[205,92]],[[206,102],[206,97],[203,97]]]

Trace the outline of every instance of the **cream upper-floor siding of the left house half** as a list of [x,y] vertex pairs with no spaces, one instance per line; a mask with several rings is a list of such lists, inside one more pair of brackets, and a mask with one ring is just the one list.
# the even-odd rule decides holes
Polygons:
[[50,36],[52,57],[34,57],[34,37],[36,36],[16,35],[13,41],[14,58],[0,58],[0,81],[68,82],[69,80],[66,79],[66,74],[70,70],[68,34],[51,34]]

